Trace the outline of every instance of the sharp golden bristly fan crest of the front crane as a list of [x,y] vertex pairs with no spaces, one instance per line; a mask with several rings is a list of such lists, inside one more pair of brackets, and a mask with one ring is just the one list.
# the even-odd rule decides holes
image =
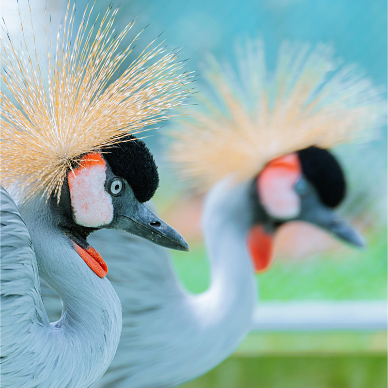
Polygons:
[[[36,194],[48,198],[54,192],[59,201],[66,172],[83,154],[170,118],[175,114],[169,111],[185,106],[190,93],[186,84],[191,73],[182,71],[179,50],[168,52],[164,42],[151,42],[118,75],[139,36],[118,51],[134,21],[115,32],[119,8],[109,6],[94,20],[93,6],[88,7],[75,29],[75,4],[70,7],[68,2],[54,55],[51,20],[47,39],[45,15],[46,77],[36,45],[29,52],[20,8],[24,52],[16,50],[5,27],[2,86],[16,104],[1,91],[1,178],[6,188],[16,185],[24,200]],[[30,15],[33,31],[31,8]]]

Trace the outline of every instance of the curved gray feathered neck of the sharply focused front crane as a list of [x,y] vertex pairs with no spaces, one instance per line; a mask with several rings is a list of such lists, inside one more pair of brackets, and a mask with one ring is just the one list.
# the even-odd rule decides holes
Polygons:
[[[118,346],[120,301],[109,280],[95,275],[78,256],[45,201],[29,201],[20,206],[20,213],[30,231],[39,275],[63,303],[61,319],[42,334],[47,336],[45,346],[53,347],[50,356],[65,360],[56,379],[63,387],[67,381],[89,387],[108,368]],[[69,380],[74,371],[76,376]]]

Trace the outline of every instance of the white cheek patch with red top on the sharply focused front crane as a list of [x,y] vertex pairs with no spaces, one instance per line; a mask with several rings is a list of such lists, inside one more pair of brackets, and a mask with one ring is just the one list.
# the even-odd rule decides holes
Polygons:
[[[101,159],[102,160],[102,159]],[[113,219],[111,196],[105,191],[105,162],[78,167],[68,174],[71,205],[78,225],[97,227]]]

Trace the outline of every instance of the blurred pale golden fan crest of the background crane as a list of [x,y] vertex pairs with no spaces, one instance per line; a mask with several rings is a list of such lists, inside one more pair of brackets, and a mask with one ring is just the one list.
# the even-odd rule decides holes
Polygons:
[[238,72],[214,58],[199,106],[171,131],[170,160],[199,191],[253,178],[281,155],[371,139],[386,116],[380,90],[319,44],[283,43],[269,75],[261,40],[237,49]]

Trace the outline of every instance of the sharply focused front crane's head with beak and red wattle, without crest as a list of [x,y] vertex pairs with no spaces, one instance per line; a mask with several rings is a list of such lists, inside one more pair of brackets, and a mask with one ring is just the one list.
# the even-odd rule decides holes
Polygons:
[[100,277],[107,273],[106,264],[86,241],[97,229],[125,230],[167,248],[189,251],[185,239],[144,204],[159,184],[152,154],[142,141],[132,136],[124,140],[83,155],[67,173],[59,204],[51,201],[59,225]]

